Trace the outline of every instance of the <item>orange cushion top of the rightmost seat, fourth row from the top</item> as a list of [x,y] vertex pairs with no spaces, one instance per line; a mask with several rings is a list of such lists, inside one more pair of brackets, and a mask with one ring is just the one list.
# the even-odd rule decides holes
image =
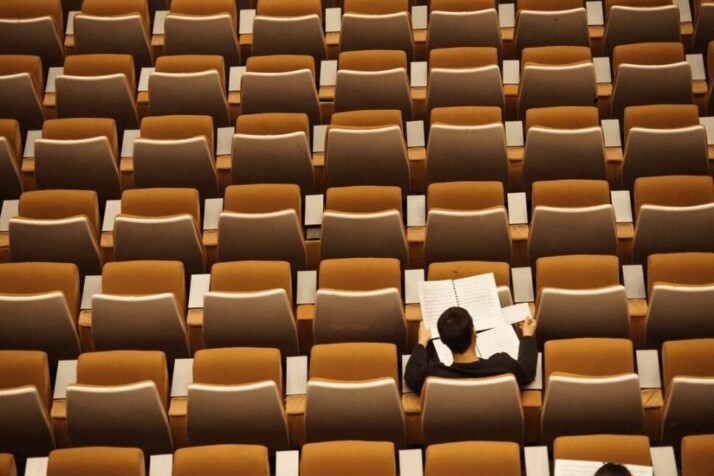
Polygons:
[[691,207],[714,202],[714,182],[707,176],[668,175],[635,181],[635,217],[642,205]]

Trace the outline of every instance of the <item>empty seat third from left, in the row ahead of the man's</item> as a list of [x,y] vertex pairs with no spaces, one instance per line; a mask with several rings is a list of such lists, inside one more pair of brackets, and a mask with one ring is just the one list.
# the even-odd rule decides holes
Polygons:
[[286,261],[216,263],[203,306],[206,347],[273,347],[298,354],[292,277]]

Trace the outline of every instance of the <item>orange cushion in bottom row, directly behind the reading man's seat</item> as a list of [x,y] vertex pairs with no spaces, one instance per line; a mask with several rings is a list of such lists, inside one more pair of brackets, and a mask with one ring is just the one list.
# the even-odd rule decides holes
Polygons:
[[520,448],[505,441],[463,441],[426,449],[426,476],[449,474],[521,474]]

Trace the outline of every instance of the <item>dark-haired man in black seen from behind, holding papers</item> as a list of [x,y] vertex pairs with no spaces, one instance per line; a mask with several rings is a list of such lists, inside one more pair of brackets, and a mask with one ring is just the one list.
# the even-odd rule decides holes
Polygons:
[[404,379],[415,392],[421,392],[427,377],[479,378],[511,373],[520,385],[535,378],[538,362],[536,343],[536,322],[532,318],[520,324],[523,338],[518,349],[518,360],[505,352],[494,354],[488,359],[480,359],[476,354],[476,329],[473,319],[466,309],[452,307],[444,311],[437,321],[441,341],[451,350],[454,363],[444,365],[437,360],[429,360],[426,347],[431,340],[431,332],[422,321],[419,326],[419,343],[414,348]]

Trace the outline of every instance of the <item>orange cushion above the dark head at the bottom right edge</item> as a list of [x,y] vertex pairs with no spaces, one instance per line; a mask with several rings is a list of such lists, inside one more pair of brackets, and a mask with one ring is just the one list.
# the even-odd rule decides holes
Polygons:
[[555,439],[553,452],[555,459],[652,466],[650,442],[642,435],[561,436]]

